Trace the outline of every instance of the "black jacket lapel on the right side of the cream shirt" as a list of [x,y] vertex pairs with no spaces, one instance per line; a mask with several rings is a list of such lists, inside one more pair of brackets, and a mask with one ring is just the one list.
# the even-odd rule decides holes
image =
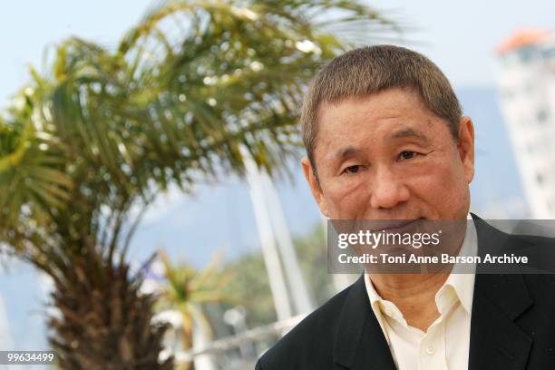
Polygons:
[[[503,248],[518,242],[487,225],[482,219],[475,220],[478,221],[475,224],[481,255],[482,247]],[[519,274],[492,275],[479,272],[476,274],[472,302],[469,369],[525,369],[532,339],[514,320],[533,305],[528,288]]]

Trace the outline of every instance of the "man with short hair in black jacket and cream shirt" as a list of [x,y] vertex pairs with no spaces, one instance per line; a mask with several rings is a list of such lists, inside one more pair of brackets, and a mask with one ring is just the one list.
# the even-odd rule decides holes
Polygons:
[[[424,55],[378,45],[337,57],[316,75],[301,123],[302,167],[327,218],[472,219],[472,120]],[[461,245],[480,249],[508,239],[482,224],[469,227]],[[555,278],[365,274],[257,364],[395,368],[555,369]]]

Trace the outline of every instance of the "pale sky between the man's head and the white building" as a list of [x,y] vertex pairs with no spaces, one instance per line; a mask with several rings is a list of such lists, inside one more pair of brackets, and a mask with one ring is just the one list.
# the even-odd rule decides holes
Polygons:
[[555,2],[545,0],[372,0],[418,29],[410,47],[437,63],[455,87],[492,86],[494,50],[514,31],[553,29]]

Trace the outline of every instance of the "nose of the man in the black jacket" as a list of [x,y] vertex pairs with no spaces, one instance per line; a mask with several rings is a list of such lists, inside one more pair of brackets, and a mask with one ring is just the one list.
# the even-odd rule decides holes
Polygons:
[[388,169],[377,171],[370,197],[373,209],[393,209],[409,200],[409,197],[410,192],[401,176]]

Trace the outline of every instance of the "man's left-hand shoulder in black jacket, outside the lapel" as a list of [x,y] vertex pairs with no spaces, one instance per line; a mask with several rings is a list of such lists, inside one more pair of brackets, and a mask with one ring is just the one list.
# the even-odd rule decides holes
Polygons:
[[257,370],[292,370],[315,361],[331,362],[339,316],[352,288],[337,293],[291,329],[260,357]]

